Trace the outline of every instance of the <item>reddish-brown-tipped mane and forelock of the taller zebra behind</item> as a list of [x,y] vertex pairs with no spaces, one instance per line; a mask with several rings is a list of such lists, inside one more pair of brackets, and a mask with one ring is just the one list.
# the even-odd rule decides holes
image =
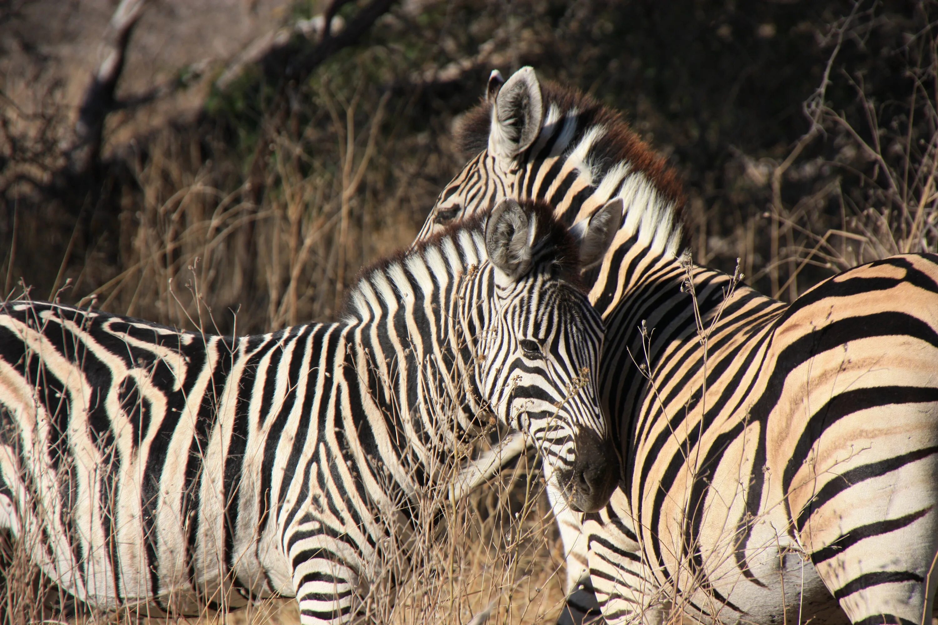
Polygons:
[[[676,254],[683,242],[686,198],[665,159],[642,141],[620,112],[595,97],[550,81],[540,82],[540,90],[544,120],[529,151],[544,149],[545,135],[555,138],[551,149],[582,159],[582,169],[588,169],[598,191],[610,183],[619,186],[619,197],[626,200],[622,228],[629,236],[660,253]],[[492,104],[483,98],[466,112],[457,129],[461,152],[476,156],[486,150],[491,128]],[[607,175],[609,180],[604,181]],[[613,190],[608,187],[606,192]]]

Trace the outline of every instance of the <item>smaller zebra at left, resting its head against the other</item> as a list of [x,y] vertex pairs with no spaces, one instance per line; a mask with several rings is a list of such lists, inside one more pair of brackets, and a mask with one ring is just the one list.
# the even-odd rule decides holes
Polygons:
[[578,267],[620,204],[567,230],[502,201],[364,271],[341,320],[266,335],[3,304],[0,527],[99,609],[285,596],[313,625],[361,616],[383,545],[421,527],[419,494],[487,420],[597,511],[618,460]]

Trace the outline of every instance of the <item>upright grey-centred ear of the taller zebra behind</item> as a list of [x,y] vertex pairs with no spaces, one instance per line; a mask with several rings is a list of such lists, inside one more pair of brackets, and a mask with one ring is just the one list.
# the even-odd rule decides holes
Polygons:
[[[489,153],[496,158],[511,159],[531,147],[544,121],[544,104],[540,97],[540,82],[531,67],[522,67],[504,85],[495,85],[492,79],[486,99],[492,101],[492,129],[489,133]],[[501,79],[498,75],[496,82]]]

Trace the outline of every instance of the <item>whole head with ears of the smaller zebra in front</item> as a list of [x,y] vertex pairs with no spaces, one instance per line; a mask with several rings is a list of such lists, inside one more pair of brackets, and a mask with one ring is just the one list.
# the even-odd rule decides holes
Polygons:
[[596,384],[603,324],[578,270],[602,257],[621,216],[613,201],[567,231],[546,204],[506,200],[485,224],[494,296],[474,358],[479,393],[534,439],[552,487],[581,512],[606,504],[619,471]]

